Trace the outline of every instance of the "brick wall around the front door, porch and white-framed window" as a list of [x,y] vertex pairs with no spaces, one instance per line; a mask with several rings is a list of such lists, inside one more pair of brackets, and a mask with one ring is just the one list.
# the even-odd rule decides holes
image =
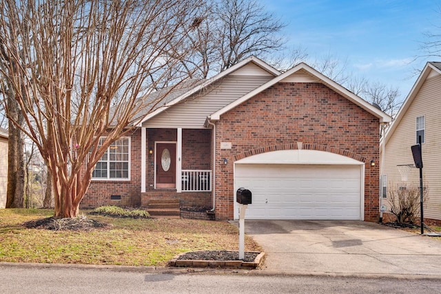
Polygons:
[[[183,169],[210,169],[211,129],[183,129]],[[147,129],[147,150],[157,141],[176,141],[176,129]],[[176,193],[176,189],[154,189],[154,154],[147,154],[146,192],[141,195],[141,129],[131,138],[131,177],[128,181],[93,180],[81,201],[82,208],[101,205],[145,207],[150,199],[178,198],[183,206],[212,207],[210,192]],[[110,196],[121,196],[111,200]]]

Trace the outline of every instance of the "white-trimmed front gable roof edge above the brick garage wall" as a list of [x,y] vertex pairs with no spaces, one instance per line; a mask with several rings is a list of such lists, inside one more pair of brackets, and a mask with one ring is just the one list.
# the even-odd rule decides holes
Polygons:
[[342,87],[342,85],[336,83],[335,81],[332,81],[327,76],[321,74],[320,72],[314,70],[314,68],[310,67],[306,63],[299,63],[298,65],[291,68],[291,70],[287,70],[287,72],[284,72],[283,74],[280,74],[279,76],[276,76],[275,78],[271,79],[271,81],[261,85],[260,87],[256,88],[252,92],[249,92],[245,96],[242,96],[238,100],[234,101],[233,103],[230,103],[229,105],[223,107],[222,109],[219,109],[217,112],[214,112],[212,115],[210,115],[207,120],[219,120],[220,116],[222,114],[225,114],[229,110],[233,109],[234,107],[244,103],[249,98],[252,98],[256,96],[256,94],[259,94],[260,92],[263,92],[267,88],[271,87],[272,85],[275,85],[276,83],[279,83],[283,80],[289,80],[291,76],[294,74],[302,74],[303,76],[307,76],[307,80],[314,81],[318,83],[322,83],[326,85],[327,87],[331,88],[338,94],[344,96],[352,103],[358,105],[362,109],[365,109],[367,112],[372,114],[373,116],[376,116],[380,119],[380,123],[390,123],[391,117],[384,112],[382,112],[377,107],[371,105],[367,101],[363,100],[356,94],[353,94],[349,90],[347,90],[345,87]]

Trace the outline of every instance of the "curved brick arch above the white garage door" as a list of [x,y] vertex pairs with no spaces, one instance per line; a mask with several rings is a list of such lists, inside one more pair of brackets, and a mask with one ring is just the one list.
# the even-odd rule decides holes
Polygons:
[[[237,160],[240,160],[243,158],[247,158],[247,157],[253,156],[253,155],[271,152],[271,151],[299,149],[298,145],[300,145],[300,143],[299,144],[298,143],[280,144],[280,145],[272,145],[272,146],[267,146],[267,147],[260,147],[260,148],[252,149],[249,151],[245,151],[240,154],[236,154],[234,156],[234,161],[237,161]],[[365,160],[366,160],[365,156],[362,156],[360,154],[356,154],[356,153],[348,151],[348,150],[338,149],[336,147],[329,147],[326,145],[309,144],[309,143],[301,143],[301,145],[302,145],[302,147],[300,149],[303,149],[303,150],[326,151],[326,152],[346,156],[349,158],[353,158],[353,159],[358,160],[360,162],[365,162]]]

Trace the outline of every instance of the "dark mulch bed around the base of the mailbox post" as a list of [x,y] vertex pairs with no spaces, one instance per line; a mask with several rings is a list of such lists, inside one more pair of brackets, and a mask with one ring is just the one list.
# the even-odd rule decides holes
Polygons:
[[[245,252],[245,258],[242,261],[254,262],[258,254],[256,252]],[[178,260],[239,260],[239,253],[238,251],[225,250],[192,251],[180,255]]]

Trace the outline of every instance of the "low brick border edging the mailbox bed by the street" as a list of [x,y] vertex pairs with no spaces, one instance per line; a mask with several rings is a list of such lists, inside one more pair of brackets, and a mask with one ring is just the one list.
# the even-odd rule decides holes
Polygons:
[[[187,252],[186,252],[187,253]],[[176,255],[172,260],[168,262],[168,266],[174,267],[216,267],[216,268],[234,268],[234,269],[257,269],[260,263],[263,262],[265,252],[252,252],[258,253],[254,262],[244,262],[242,260],[179,260],[181,253]]]

